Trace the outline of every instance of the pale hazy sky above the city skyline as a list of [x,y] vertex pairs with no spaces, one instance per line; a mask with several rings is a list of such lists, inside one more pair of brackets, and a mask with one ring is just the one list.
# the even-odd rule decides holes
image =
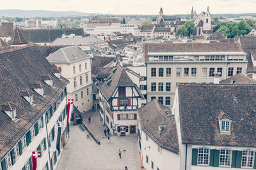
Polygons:
[[256,13],[256,0],[1,0],[0,10],[81,11],[85,13],[157,15],[197,13],[210,7],[211,13]]

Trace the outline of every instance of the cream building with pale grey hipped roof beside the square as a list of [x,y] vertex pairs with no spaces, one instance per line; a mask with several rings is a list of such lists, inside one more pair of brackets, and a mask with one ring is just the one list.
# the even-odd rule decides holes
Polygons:
[[92,71],[90,55],[78,46],[68,46],[47,57],[51,64],[61,68],[61,76],[69,81],[67,99],[81,112],[92,109]]

